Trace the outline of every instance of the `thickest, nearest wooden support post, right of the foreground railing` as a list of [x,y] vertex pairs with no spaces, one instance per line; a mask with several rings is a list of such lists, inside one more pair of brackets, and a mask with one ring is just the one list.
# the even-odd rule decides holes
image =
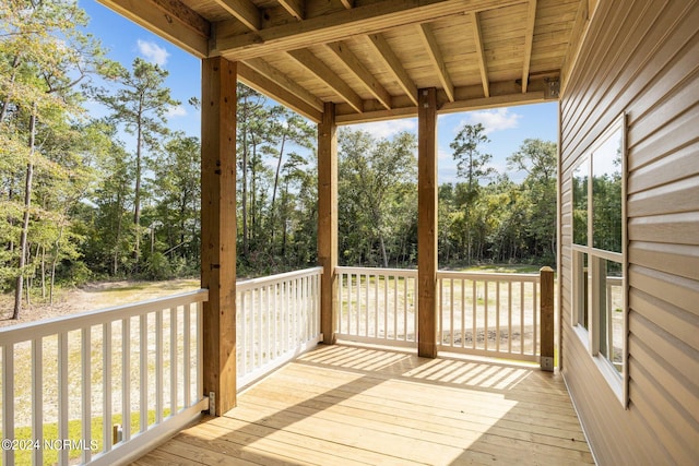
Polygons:
[[236,406],[236,81],[237,65],[202,61],[201,286],[204,395],[215,415]]

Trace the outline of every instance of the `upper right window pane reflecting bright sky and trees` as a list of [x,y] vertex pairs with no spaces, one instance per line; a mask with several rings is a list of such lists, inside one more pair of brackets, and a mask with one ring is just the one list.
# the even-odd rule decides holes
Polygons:
[[592,156],[592,246],[621,252],[621,130]]

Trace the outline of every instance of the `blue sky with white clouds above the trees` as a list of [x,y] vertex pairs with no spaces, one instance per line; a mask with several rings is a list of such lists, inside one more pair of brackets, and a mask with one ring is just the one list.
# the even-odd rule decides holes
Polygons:
[[[168,70],[166,85],[170,88],[173,97],[181,101],[180,106],[169,111],[168,124],[173,130],[199,136],[200,113],[189,106],[187,100],[190,97],[199,97],[201,93],[200,60],[94,0],[79,0],[79,4],[91,17],[88,31],[109,50],[109,58],[130,69],[133,59],[141,57]],[[92,106],[91,110],[97,115],[104,112],[96,106]],[[517,152],[525,139],[540,138],[557,142],[557,113],[558,104],[548,103],[440,116],[437,129],[439,182],[458,181],[449,143],[464,124],[483,123],[490,143],[481,150],[493,155],[491,165],[498,172],[506,172],[507,157]],[[367,123],[357,128],[375,136],[390,138],[399,131],[417,132],[417,120],[412,118]],[[523,178],[523,174],[509,175],[518,181]]]

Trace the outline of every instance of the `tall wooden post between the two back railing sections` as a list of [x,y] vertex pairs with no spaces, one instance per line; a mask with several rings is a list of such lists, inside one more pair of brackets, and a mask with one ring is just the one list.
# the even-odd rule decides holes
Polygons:
[[417,94],[417,354],[436,358],[437,89]]

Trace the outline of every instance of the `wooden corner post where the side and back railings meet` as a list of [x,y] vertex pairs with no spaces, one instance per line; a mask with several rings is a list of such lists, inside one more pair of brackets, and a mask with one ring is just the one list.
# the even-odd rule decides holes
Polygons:
[[320,330],[323,343],[335,343],[337,322],[337,127],[335,105],[325,103],[318,124],[318,261],[320,279]]

